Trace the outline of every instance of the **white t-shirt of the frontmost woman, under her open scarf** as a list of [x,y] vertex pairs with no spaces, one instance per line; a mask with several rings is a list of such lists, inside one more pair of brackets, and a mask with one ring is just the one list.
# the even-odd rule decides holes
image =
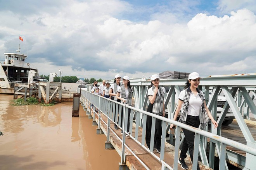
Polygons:
[[[180,92],[179,99],[184,101],[184,96],[185,96],[185,90],[182,90]],[[189,110],[188,110],[187,114],[190,116],[199,116],[199,113],[201,111],[201,105],[202,105],[202,99],[199,96],[199,93],[194,95],[193,92],[190,92]],[[182,109],[183,109],[183,107],[182,107]]]

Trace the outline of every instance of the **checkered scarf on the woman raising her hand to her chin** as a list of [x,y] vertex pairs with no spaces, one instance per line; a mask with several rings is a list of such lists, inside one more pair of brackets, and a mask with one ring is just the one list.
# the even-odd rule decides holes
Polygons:
[[[152,86],[153,92],[155,91],[155,88],[156,88],[155,86]],[[163,91],[162,87],[160,87],[160,86],[158,86],[158,90],[159,90],[160,96],[159,96],[159,93],[157,92],[156,99],[153,104],[152,113],[162,116],[163,103],[164,103],[164,91]]]

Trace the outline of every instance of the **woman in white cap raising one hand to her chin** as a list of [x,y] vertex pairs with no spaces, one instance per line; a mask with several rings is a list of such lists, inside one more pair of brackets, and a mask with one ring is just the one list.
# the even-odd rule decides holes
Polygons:
[[[157,74],[151,76],[152,87],[147,90],[147,96],[149,98],[149,106],[147,107],[147,112],[157,114],[164,117],[164,94],[165,88],[159,86],[159,76]],[[147,116],[146,123],[146,143],[150,147],[151,138],[151,127],[152,127],[152,117]],[[160,153],[161,149],[161,135],[162,135],[162,121],[156,119],[155,126],[155,139],[154,148]]]

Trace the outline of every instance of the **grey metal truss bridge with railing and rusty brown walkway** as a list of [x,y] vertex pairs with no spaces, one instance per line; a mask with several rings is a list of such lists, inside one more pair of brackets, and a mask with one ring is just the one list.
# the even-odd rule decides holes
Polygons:
[[[254,98],[256,97],[255,73],[251,75],[211,76],[206,77],[201,81],[199,88],[200,90],[204,90],[208,108],[215,119],[217,117],[218,95],[223,95],[226,98],[225,105],[217,120],[219,127],[214,129],[212,128],[211,124],[208,127],[209,129],[206,129],[206,131],[195,129],[172,120],[176,109],[175,98],[177,99],[180,91],[183,90],[186,82],[185,79],[160,80],[161,86],[169,88],[165,96],[165,106],[168,110],[168,117],[161,117],[144,111],[149,103],[147,98],[147,89],[150,86],[150,80],[139,78],[131,79],[130,82],[134,91],[134,107],[124,105],[104,97],[100,97],[99,95],[94,95],[84,90],[81,91],[80,97],[83,108],[86,110],[89,117],[93,119],[94,124],[98,125],[97,133],[104,131],[106,134],[106,148],[119,148],[118,153],[121,156],[120,169],[124,167],[129,167],[130,169],[138,169],[135,168],[136,166],[134,162],[139,162],[140,166],[144,167],[145,169],[152,169],[152,167],[150,167],[150,163],[146,163],[143,160],[142,155],[150,155],[146,157],[148,159],[150,157],[150,160],[153,159],[152,161],[158,162],[158,168],[154,167],[154,169],[178,169],[179,146],[182,145],[183,141],[183,134],[181,129],[183,128],[195,132],[194,155],[200,155],[201,163],[203,164],[201,165],[201,169],[215,169],[214,159],[217,159],[217,157],[219,158],[219,169],[221,170],[228,169],[227,162],[237,165],[245,170],[255,169],[254,162],[256,161],[256,142],[254,136],[256,134],[255,131],[252,134],[250,129],[254,128],[254,125],[248,127],[246,124],[246,119],[251,119],[249,114],[251,114],[254,119],[256,118],[256,105],[254,102]],[[90,89],[91,87],[89,86],[88,90]],[[212,91],[210,97],[209,91]],[[90,108],[91,104],[97,107],[99,112],[96,112],[95,107],[92,110]],[[113,113],[113,107],[116,108],[114,109],[116,114]],[[123,109],[123,127],[120,127],[121,116],[118,117],[118,107],[119,109]],[[244,143],[239,143],[232,140],[234,133],[228,138],[223,137],[221,131],[221,123],[225,119],[229,108],[231,108],[235,116],[236,122],[238,124],[237,127],[239,127],[241,132],[240,134],[242,134],[245,139]],[[130,124],[133,125],[130,126],[131,134],[128,134],[125,130],[127,127],[128,109],[131,109]],[[119,114],[121,114],[121,110],[119,110]],[[123,134],[120,134],[120,130],[114,130],[113,126],[111,125],[114,122],[114,115],[116,115],[115,123],[118,124],[119,122],[119,128],[123,129]],[[145,126],[143,125],[146,122],[147,116],[152,116],[152,129],[154,129],[154,122],[156,119],[161,119],[163,122],[160,154],[157,154],[154,151],[153,146],[149,146],[148,148],[147,145],[145,145]],[[119,121],[117,121],[118,119]],[[176,125],[174,136],[168,132],[168,124],[170,123]],[[236,130],[238,132],[238,129]],[[166,137],[167,133],[170,134],[170,137]],[[128,137],[126,137],[126,134]],[[151,134],[152,141],[154,140],[153,130]],[[111,138],[111,135],[114,137]],[[130,140],[133,141],[133,145],[128,145],[127,142]],[[168,143],[166,141],[168,141]],[[118,143],[121,145],[121,147],[118,147]],[[170,145],[170,143],[174,146]],[[143,151],[138,152],[136,147],[133,147],[135,145],[137,148],[139,147]],[[236,148],[236,151],[232,151],[227,148]],[[237,150],[243,152],[244,154],[240,154],[237,152]],[[134,156],[134,159],[128,159],[128,152],[130,155]],[[192,167],[193,170],[196,169],[194,166],[197,165],[195,163],[198,160],[197,158],[198,156],[194,156],[194,163]],[[133,160],[133,162],[131,160]],[[191,163],[189,164],[190,159],[187,159],[186,162],[188,165],[192,166]]]

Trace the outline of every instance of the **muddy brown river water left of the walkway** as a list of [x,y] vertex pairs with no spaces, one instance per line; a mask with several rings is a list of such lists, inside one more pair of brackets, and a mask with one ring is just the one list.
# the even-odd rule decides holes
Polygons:
[[121,158],[105,150],[106,136],[72,102],[12,106],[0,95],[0,170],[115,170]]

